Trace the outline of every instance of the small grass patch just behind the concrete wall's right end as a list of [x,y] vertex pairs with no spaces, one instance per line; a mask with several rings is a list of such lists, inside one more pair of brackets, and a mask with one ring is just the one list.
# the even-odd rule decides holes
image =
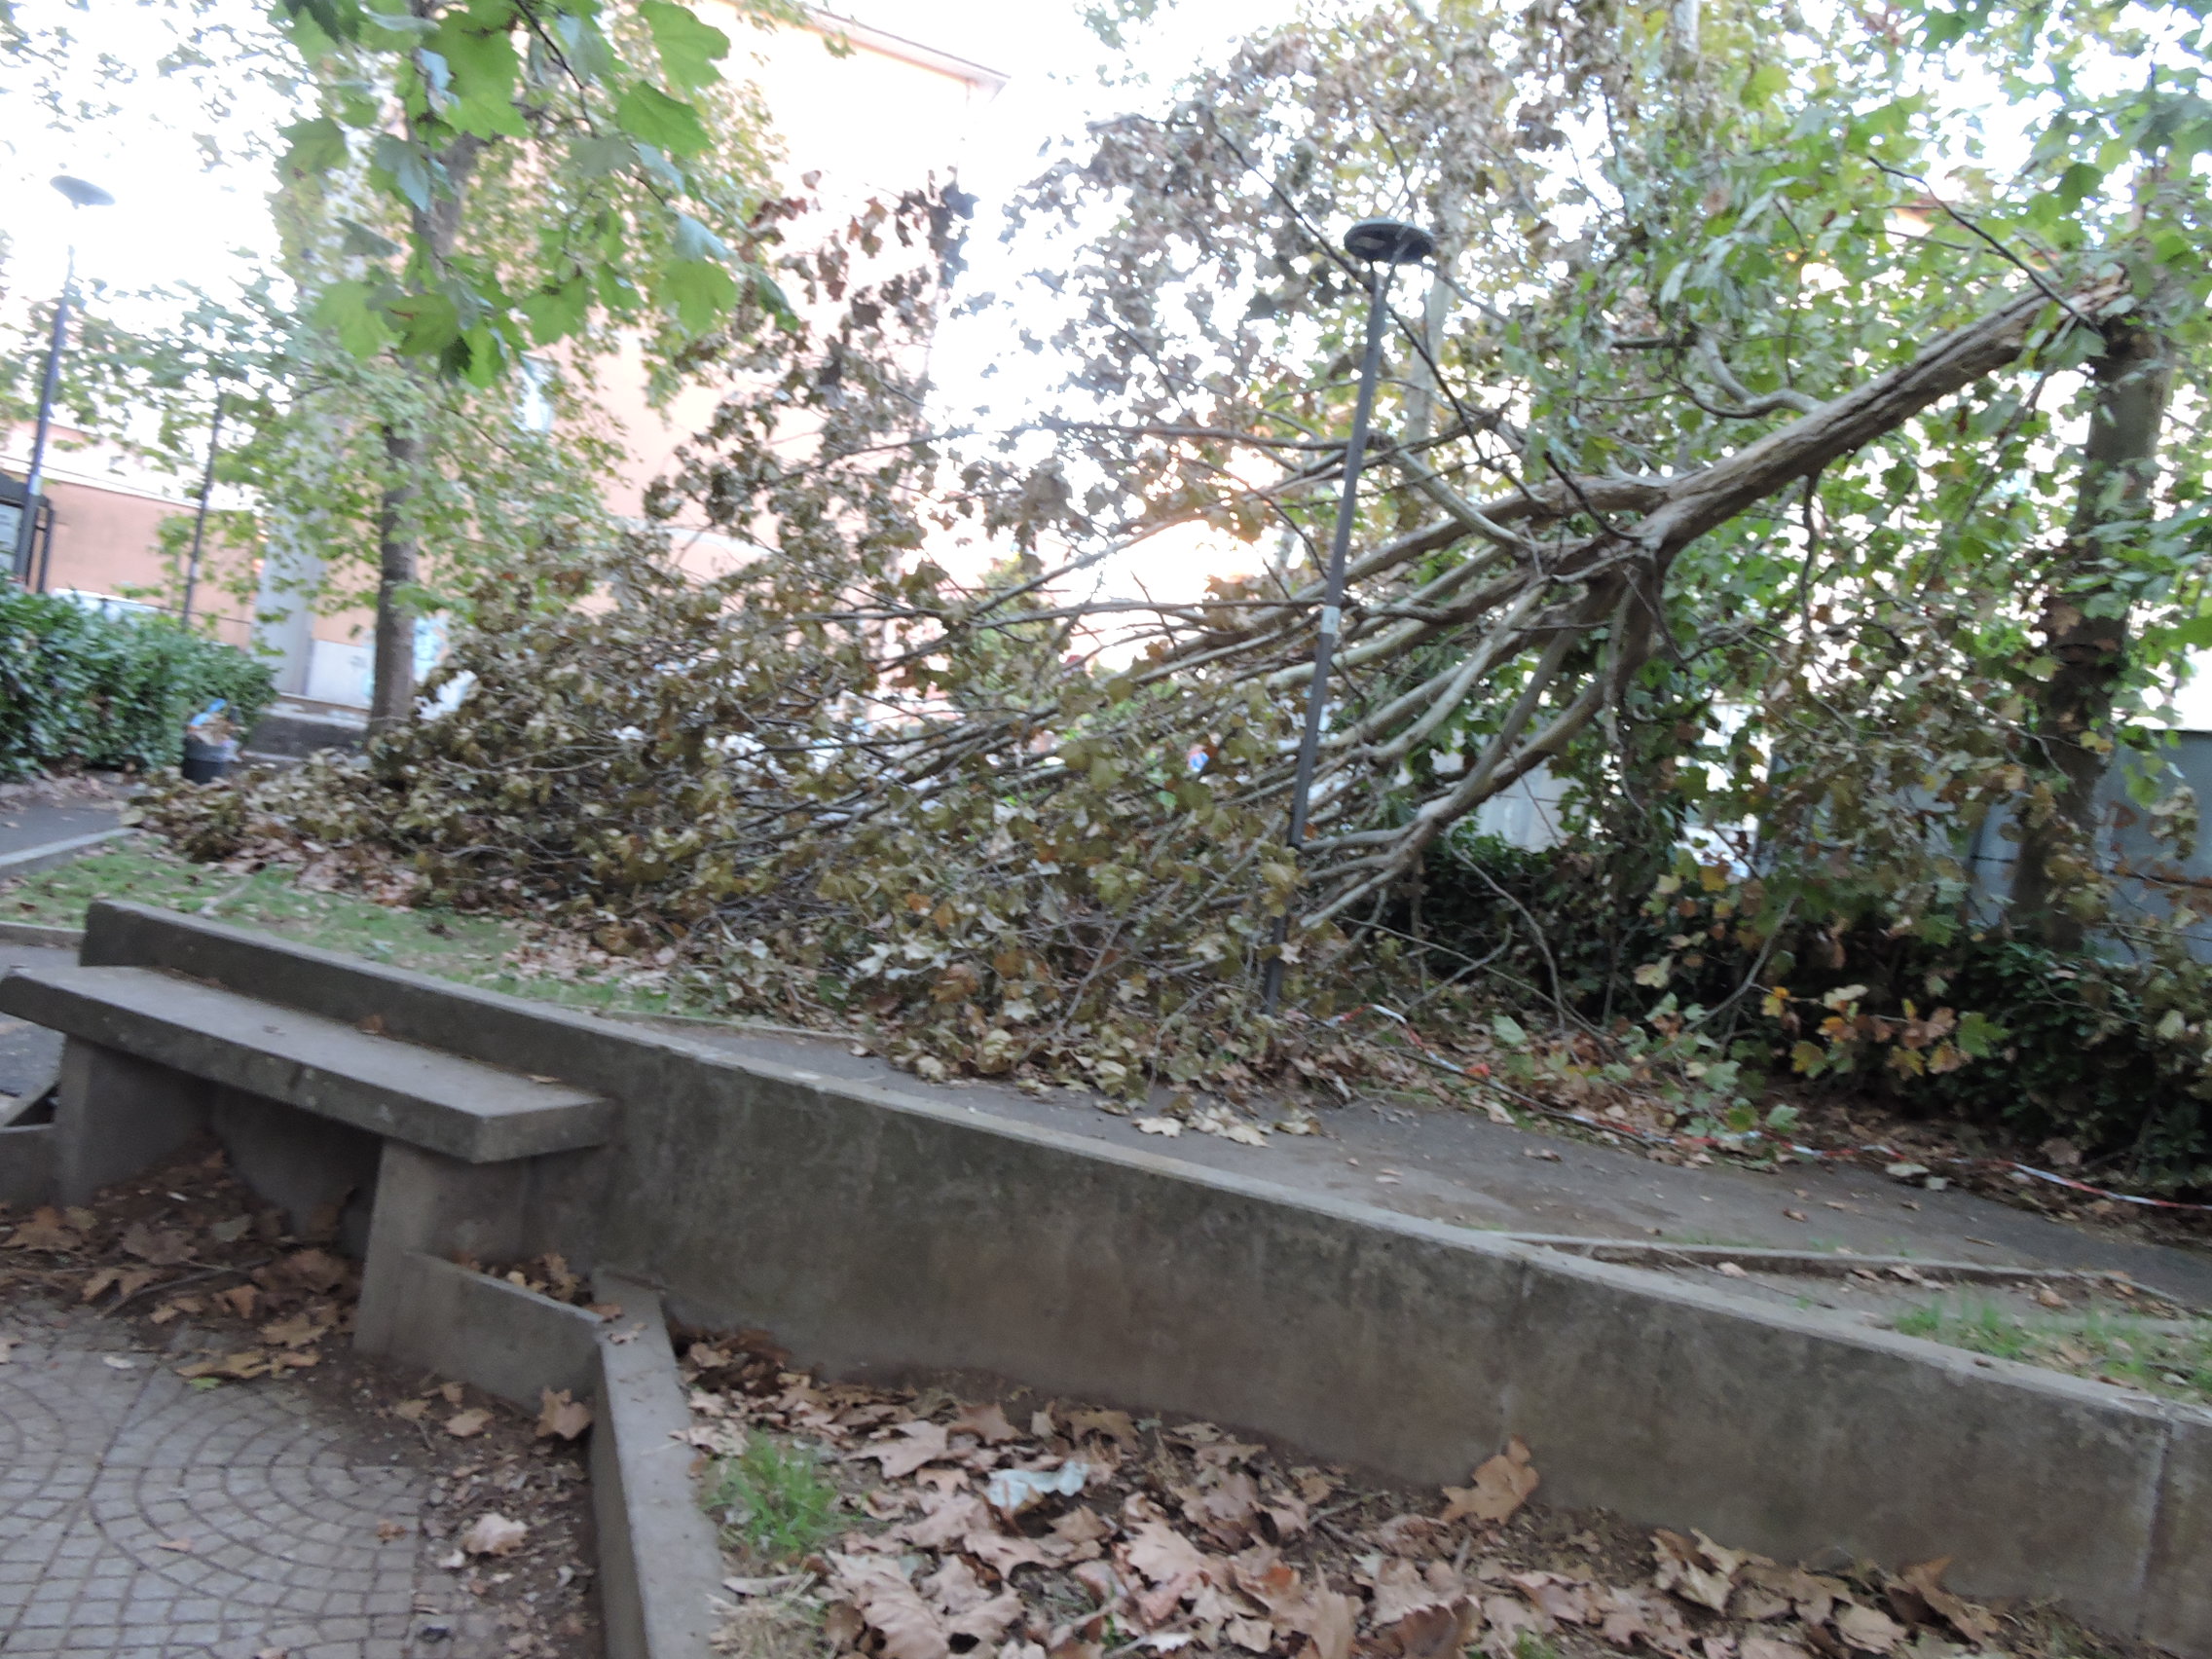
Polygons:
[[1960,1298],[1911,1307],[1891,1325],[1902,1336],[2000,1360],[2212,1405],[2212,1318],[2137,1318],[2104,1307],[2026,1314],[1989,1298]]

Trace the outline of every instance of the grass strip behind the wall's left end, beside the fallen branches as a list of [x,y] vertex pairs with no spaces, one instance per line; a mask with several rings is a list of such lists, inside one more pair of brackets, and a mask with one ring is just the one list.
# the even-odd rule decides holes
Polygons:
[[131,898],[239,922],[301,945],[542,1002],[613,1013],[706,1013],[686,1009],[666,991],[624,980],[522,973],[515,969],[515,951],[524,931],[511,920],[434,907],[396,909],[301,887],[299,872],[290,867],[272,865],[241,876],[217,865],[195,865],[155,836],[133,836],[0,887],[0,920],[82,927],[84,907],[95,898]]

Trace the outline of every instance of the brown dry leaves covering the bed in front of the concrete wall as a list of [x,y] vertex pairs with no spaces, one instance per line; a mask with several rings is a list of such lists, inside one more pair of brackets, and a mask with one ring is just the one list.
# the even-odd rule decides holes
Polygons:
[[[1467,1486],[1391,1493],[1208,1422],[821,1383],[757,1334],[695,1340],[684,1369],[703,1453],[759,1433],[812,1442],[849,1513],[799,1575],[734,1559],[723,1648],[745,1659],[770,1601],[805,1650],[880,1659],[2042,1650],[2039,1626],[2008,1639],[2004,1617],[1947,1590],[1944,1562],[1812,1573],[1533,1511],[1540,1460],[1520,1440]],[[792,1626],[792,1606],[807,1619]]]

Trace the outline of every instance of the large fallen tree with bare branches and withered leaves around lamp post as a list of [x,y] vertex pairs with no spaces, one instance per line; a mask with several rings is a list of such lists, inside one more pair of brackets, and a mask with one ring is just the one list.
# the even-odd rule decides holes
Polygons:
[[[925,418],[916,374],[958,204],[878,204],[785,261],[803,327],[737,319],[741,389],[661,491],[761,557],[697,580],[641,535],[491,573],[451,714],[363,772],[164,821],[208,854],[400,856],[442,900],[551,911],[699,995],[858,1022],[933,1075],[1234,1091],[1352,1064],[1321,1035],[1354,1004],[1464,1029],[1469,995],[1542,1009],[1584,1055],[1577,1086],[1657,1091],[1661,1121],[1741,1108],[1776,1062],[1991,1057],[1995,1022],[1944,1006],[1927,960],[1900,1006],[1858,984],[1805,1035],[1785,975],[1847,984],[1854,929],[1933,947],[1969,927],[1960,843],[2002,805],[2086,845],[2037,748],[2037,595],[2124,591],[2174,648],[2201,467],[2174,465],[2179,529],[2150,551],[2077,540],[2053,562],[2046,480],[2068,469],[2037,398],[2154,310],[2157,254],[2137,223],[2024,257],[1949,208],[1971,239],[1898,234],[1936,208],[1898,188],[1898,128],[1869,128],[1885,88],[1778,100],[1767,9],[1714,13],[1688,77],[1579,13],[1469,7],[1427,33],[1358,13],[1102,128],[1026,199],[1031,223],[1117,215],[1048,283],[1064,323],[1035,343],[1068,394],[991,429]],[[1467,73],[1409,75],[1438,51]],[[1754,84],[1756,108],[1728,102]],[[1409,91],[1378,113],[1376,86]],[[1577,113],[1610,122],[1610,195],[1562,248]],[[1398,319],[1294,858],[1358,292],[1316,226],[1371,206],[1383,153],[1449,254]],[[801,206],[776,215],[799,243]],[[885,274],[887,246],[927,257]],[[1279,551],[1203,595],[1095,586],[1199,524]],[[1571,785],[1601,902],[1500,889],[1504,938],[1425,927],[1473,814],[1537,768]],[[1666,885],[1683,858],[1694,902]],[[2070,902],[2101,905],[2095,858],[2068,869]],[[1254,984],[1285,911],[1292,1013],[1270,1020]],[[1573,984],[1584,920],[1608,956]],[[2146,960],[2168,984],[2128,1006],[2174,1026],[2185,1164],[2212,993],[2174,929]]]

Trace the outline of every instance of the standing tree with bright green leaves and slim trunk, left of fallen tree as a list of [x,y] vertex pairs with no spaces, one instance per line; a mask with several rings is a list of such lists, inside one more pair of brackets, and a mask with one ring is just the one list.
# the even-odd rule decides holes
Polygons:
[[765,126],[723,77],[730,38],[675,0],[279,0],[274,20],[319,106],[283,135],[288,265],[383,383],[369,726],[389,730],[414,708],[431,405],[513,396],[546,347],[588,385],[626,330],[666,369],[741,283],[774,296],[752,261]]

